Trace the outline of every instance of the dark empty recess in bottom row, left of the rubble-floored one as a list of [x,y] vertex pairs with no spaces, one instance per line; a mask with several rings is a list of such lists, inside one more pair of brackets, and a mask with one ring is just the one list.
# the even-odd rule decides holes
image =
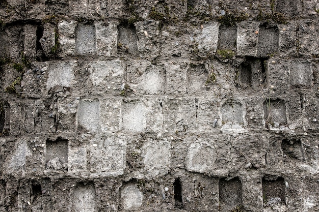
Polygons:
[[223,211],[242,205],[242,182],[238,177],[219,180],[219,202]]

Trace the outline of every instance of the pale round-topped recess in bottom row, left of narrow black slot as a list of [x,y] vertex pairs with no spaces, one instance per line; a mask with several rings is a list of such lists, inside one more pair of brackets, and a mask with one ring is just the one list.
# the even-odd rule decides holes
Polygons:
[[123,186],[121,189],[120,203],[126,211],[140,209],[143,198],[143,193],[134,184]]

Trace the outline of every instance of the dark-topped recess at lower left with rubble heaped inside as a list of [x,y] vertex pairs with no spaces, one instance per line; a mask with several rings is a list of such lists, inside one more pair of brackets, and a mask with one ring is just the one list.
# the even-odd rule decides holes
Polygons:
[[46,140],[45,169],[63,170],[68,167],[69,141],[58,138],[55,141]]

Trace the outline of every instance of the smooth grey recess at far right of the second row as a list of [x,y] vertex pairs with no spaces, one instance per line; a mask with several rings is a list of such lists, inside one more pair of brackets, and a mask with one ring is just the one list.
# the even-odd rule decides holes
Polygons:
[[311,64],[302,60],[290,62],[290,88],[310,88],[312,84]]

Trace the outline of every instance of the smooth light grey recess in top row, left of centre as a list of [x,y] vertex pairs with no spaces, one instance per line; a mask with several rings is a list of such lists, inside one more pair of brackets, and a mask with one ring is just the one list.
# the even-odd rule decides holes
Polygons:
[[75,45],[78,54],[91,54],[96,51],[95,26],[91,24],[77,24],[75,30]]

